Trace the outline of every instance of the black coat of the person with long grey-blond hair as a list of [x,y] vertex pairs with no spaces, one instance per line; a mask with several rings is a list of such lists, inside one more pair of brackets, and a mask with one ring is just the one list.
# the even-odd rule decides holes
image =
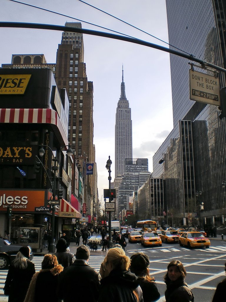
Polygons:
[[15,268],[9,266],[5,280],[4,294],[9,296],[8,302],[24,302],[32,276],[35,273],[35,266],[27,260],[27,268]]

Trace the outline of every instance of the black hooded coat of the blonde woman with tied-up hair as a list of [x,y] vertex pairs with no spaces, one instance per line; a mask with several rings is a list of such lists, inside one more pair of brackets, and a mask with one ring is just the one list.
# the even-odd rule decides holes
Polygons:
[[137,291],[139,302],[143,302],[143,294],[138,278],[130,270],[113,269],[107,277],[101,279],[100,284],[98,302],[137,302],[137,298],[133,293],[134,290]]

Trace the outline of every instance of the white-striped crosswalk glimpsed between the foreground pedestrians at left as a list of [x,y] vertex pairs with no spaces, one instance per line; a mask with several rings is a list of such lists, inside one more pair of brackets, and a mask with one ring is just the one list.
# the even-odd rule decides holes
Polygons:
[[[101,263],[104,261],[105,255],[90,255],[89,265],[95,268],[96,271],[100,270]],[[35,265],[35,271],[40,271],[42,268],[43,256],[34,256],[32,262]],[[8,302],[8,297],[4,295],[3,288],[8,270],[0,269],[0,302]]]

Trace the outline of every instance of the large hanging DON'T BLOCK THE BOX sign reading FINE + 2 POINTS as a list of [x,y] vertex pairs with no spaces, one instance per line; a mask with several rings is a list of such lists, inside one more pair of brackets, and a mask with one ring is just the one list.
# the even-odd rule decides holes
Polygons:
[[219,78],[190,69],[190,99],[220,106]]

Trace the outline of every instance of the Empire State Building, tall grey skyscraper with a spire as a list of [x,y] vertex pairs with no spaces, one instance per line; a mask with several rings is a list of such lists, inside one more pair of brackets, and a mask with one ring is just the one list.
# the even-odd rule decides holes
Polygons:
[[132,120],[129,101],[126,98],[122,67],[121,96],[116,109],[115,121],[115,177],[124,174],[126,158],[133,158]]

